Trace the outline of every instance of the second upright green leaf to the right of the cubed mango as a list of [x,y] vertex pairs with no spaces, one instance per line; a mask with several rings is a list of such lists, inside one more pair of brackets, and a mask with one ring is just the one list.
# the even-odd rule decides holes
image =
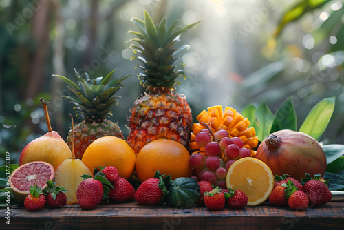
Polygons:
[[263,141],[266,136],[270,134],[272,123],[274,121],[274,114],[270,111],[265,101],[262,102],[255,111],[256,120],[253,123],[256,135],[259,141]]

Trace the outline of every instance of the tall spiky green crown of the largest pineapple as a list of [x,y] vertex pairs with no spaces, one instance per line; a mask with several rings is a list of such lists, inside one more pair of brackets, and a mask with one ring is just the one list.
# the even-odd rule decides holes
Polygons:
[[[164,17],[160,23],[155,25],[146,10],[144,10],[144,21],[135,17],[131,21],[140,30],[140,32],[129,30],[129,33],[137,36],[130,41],[138,43],[131,44],[130,48],[133,53],[139,54],[139,56],[134,56],[131,60],[138,59],[143,63],[143,65],[139,66],[143,70],[138,74],[138,79],[141,80],[140,83],[144,87],[166,87],[171,89],[174,88],[175,83],[180,85],[175,79],[179,76],[186,79],[186,76],[184,70],[175,69],[174,63],[178,59],[176,55],[184,49],[189,49],[189,45],[182,45],[179,48],[173,46],[186,30],[189,30],[198,22],[180,28],[180,25],[176,25],[177,20],[168,27],[166,17]],[[180,65],[184,66],[184,63],[180,63]]]

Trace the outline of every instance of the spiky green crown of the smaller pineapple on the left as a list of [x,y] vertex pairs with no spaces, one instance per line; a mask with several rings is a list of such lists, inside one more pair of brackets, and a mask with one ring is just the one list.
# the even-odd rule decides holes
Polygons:
[[123,87],[121,82],[131,76],[131,74],[129,74],[120,79],[110,81],[114,71],[115,70],[107,74],[105,78],[97,77],[96,79],[91,79],[87,73],[85,73],[85,78],[83,78],[83,76],[74,70],[77,79],[76,83],[65,76],[53,76],[58,76],[58,78],[65,81],[65,83],[68,84],[67,87],[69,90],[76,95],[63,96],[76,105],[74,107],[76,116],[93,121],[103,120],[112,115],[110,108],[118,104],[117,99],[120,98],[120,96],[114,95]]

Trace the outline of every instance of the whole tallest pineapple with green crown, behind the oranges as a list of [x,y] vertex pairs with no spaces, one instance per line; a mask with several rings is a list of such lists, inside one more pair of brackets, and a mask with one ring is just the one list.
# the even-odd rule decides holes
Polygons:
[[165,17],[155,25],[146,10],[144,21],[137,18],[131,21],[140,32],[129,31],[137,36],[131,39],[137,44],[132,44],[130,48],[139,54],[133,59],[142,61],[142,72],[138,78],[147,92],[135,101],[130,110],[127,143],[136,154],[145,144],[159,138],[176,140],[187,147],[192,115],[185,97],[175,92],[175,84],[180,84],[176,79],[179,76],[185,78],[185,74],[174,63],[178,59],[176,54],[189,48],[189,45],[175,48],[175,43],[182,33],[196,23],[179,29],[176,26],[178,21],[175,21],[167,27]]

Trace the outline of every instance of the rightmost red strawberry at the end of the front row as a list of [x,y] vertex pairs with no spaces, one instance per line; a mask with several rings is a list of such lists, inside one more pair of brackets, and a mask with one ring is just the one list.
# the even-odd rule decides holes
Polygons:
[[321,181],[320,175],[314,175],[314,178],[310,174],[305,174],[305,176],[306,178],[302,178],[301,180],[305,182],[303,188],[310,200],[310,205],[320,206],[330,202],[332,194],[327,187],[328,181]]

